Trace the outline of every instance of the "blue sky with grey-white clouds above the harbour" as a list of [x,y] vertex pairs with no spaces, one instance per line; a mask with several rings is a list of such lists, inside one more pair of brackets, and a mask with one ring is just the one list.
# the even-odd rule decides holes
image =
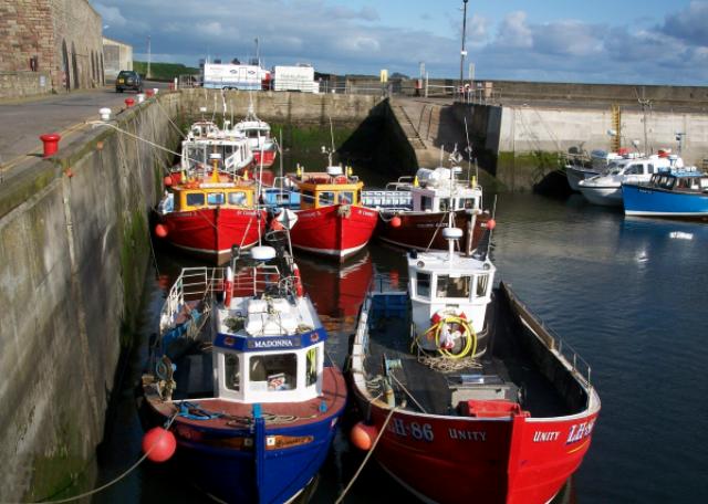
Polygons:
[[[106,36],[145,59],[459,75],[461,0],[92,0]],[[693,84],[708,81],[708,0],[470,0],[477,78]],[[467,72],[467,65],[466,65]]]

